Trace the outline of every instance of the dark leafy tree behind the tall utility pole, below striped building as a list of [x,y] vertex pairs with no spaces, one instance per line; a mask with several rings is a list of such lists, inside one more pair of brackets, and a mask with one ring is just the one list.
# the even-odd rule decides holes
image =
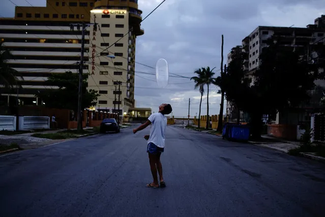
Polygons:
[[[87,90],[88,74],[83,74],[81,110],[97,104],[98,91]],[[46,85],[58,86],[58,89],[46,89],[36,96],[41,98],[45,106],[52,108],[67,108],[77,111],[79,75],[71,71],[63,74],[51,74]]]

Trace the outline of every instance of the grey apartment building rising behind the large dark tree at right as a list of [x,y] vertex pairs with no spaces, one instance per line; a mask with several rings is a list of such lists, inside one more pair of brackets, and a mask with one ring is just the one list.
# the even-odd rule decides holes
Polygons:
[[[321,15],[314,20],[314,24],[309,24],[306,28],[294,27],[277,27],[277,26],[258,26],[253,32],[242,40],[242,49],[248,53],[248,58],[244,61],[244,70],[246,75],[252,79],[251,85],[254,84],[252,74],[261,64],[259,56],[263,47],[267,46],[267,40],[272,36],[281,37],[283,49],[308,51],[310,44],[325,44],[325,15]],[[309,53],[310,56],[313,53]],[[230,53],[227,56],[227,63],[231,62]],[[231,103],[227,102],[227,114],[233,110]]]

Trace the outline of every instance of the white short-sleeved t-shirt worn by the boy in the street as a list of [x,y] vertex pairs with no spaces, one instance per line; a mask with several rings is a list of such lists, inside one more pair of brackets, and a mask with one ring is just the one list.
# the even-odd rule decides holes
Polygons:
[[161,113],[155,113],[152,114],[148,120],[152,123],[148,144],[154,143],[156,146],[164,148],[167,118]]

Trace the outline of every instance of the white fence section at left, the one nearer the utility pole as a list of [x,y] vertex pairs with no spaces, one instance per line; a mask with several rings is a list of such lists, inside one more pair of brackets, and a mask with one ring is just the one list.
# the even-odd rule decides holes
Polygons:
[[21,116],[19,117],[18,130],[49,129],[50,117],[46,116]]

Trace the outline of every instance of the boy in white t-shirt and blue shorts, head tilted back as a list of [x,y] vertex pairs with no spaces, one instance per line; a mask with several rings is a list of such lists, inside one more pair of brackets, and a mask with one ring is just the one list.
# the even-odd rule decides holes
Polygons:
[[159,187],[157,170],[160,178],[160,187],[166,187],[162,176],[160,155],[162,152],[164,152],[165,147],[165,131],[167,127],[167,118],[165,117],[165,115],[170,114],[171,111],[172,108],[170,104],[161,104],[159,106],[158,113],[152,114],[144,124],[142,124],[136,129],[133,129],[133,133],[136,133],[137,131],[140,131],[152,124],[150,135],[145,135],[144,139],[148,141],[146,152],[148,152],[149,155],[150,169],[154,181],[150,184],[146,184],[146,187]]

